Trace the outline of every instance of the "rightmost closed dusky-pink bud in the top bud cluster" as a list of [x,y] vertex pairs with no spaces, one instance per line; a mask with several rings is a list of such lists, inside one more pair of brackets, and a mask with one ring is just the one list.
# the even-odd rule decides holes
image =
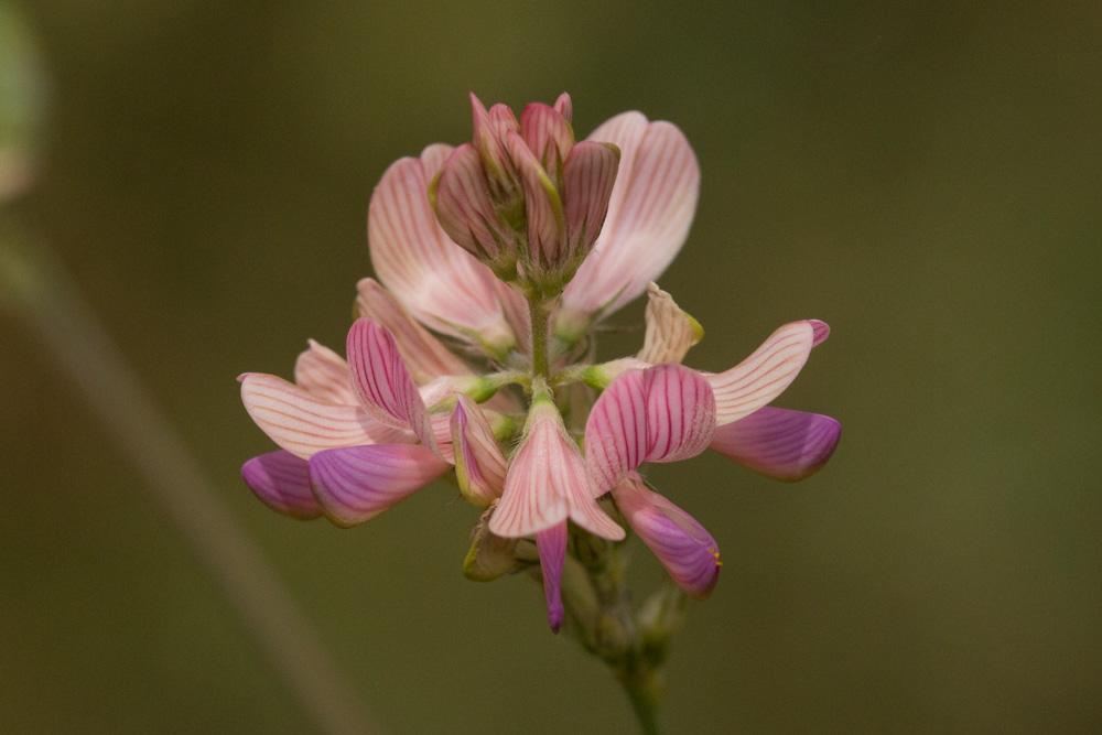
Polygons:
[[605,143],[582,141],[570,152],[562,195],[572,258],[584,258],[601,234],[618,166],[619,151]]

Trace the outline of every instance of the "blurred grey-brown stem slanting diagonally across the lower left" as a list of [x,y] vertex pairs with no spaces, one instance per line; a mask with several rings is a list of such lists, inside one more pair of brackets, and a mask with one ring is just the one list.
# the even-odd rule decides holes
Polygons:
[[318,729],[380,732],[60,262],[2,207],[0,306],[26,321],[77,385]]

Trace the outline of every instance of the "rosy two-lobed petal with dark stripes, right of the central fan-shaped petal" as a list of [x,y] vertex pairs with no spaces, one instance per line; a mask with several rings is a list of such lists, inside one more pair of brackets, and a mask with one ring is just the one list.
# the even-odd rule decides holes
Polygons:
[[585,424],[586,466],[602,495],[645,462],[679,462],[707,447],[715,402],[699,374],[680,365],[628,370],[601,394]]

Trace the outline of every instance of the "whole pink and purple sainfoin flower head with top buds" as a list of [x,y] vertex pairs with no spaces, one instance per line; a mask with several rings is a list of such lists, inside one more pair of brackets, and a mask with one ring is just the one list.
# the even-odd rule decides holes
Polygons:
[[[782,480],[814,473],[840,424],[770,404],[829,329],[790,322],[728,370],[683,366],[703,329],[655,284],[696,205],[682,132],[625,112],[577,140],[566,95],[519,118],[474,96],[472,109],[471,142],[401,159],[375,188],[378,281],[357,285],[345,357],[311,342],[293,382],[240,377],[279,446],[242,475],[270,508],[342,527],[449,477],[483,509],[467,575],[539,572],[552,629],[592,625],[594,650],[619,660],[608,615],[590,616],[584,583],[564,597],[563,575],[581,569],[606,590],[605,555],[630,530],[678,587],[706,597],[719,544],[646,465],[711,448]],[[585,359],[593,327],[644,292],[639,352]]]

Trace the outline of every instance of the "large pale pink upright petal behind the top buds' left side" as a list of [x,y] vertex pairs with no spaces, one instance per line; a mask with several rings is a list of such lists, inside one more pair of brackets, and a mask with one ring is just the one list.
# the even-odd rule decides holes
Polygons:
[[368,239],[379,280],[430,328],[505,353],[515,344],[488,268],[444,234],[429,182],[452,149],[430,145],[395,162],[371,195]]

